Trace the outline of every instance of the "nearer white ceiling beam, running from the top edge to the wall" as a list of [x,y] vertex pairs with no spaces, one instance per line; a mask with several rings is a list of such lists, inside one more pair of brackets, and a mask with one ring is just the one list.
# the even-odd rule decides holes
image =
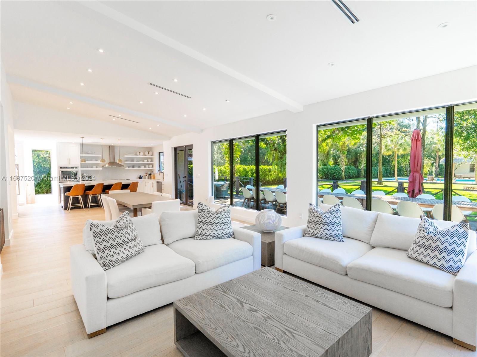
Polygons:
[[251,87],[254,87],[255,89],[259,89],[260,91],[268,94],[270,97],[274,99],[274,102],[278,102],[278,105],[280,105],[283,109],[288,109],[292,111],[293,113],[298,113],[303,111],[303,105],[294,101],[293,99],[290,99],[283,94],[257,82],[256,80],[253,80],[239,72],[237,72],[234,69],[231,69],[230,67],[227,67],[223,65],[222,63],[211,59],[210,57],[207,57],[206,55],[193,50],[186,45],[171,39],[170,37],[167,37],[166,35],[162,34],[159,31],[156,31],[154,29],[151,29],[150,27],[144,25],[143,23],[132,19],[131,17],[124,15],[122,12],[114,10],[110,8],[107,5],[104,5],[103,3],[99,1],[79,1],[81,4],[86,6],[87,8],[97,11],[104,16],[109,17],[110,19],[113,19],[115,21],[118,21],[122,23],[123,25],[136,30],[138,32],[141,32],[142,34],[159,41],[166,46],[169,46],[179,52],[182,52],[186,54],[189,57],[192,57],[202,63],[207,64],[210,67],[213,67],[225,74],[227,74],[230,77],[233,77],[235,79],[238,79],[239,81],[248,84]]

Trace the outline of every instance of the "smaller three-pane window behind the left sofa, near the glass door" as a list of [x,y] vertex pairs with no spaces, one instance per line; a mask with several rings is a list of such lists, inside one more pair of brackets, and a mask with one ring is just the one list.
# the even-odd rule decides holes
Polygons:
[[286,172],[286,132],[212,143],[212,192],[216,203],[274,209],[286,215]]

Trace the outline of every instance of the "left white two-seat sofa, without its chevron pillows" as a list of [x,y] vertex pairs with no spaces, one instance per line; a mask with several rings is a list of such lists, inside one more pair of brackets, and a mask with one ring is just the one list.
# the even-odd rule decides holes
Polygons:
[[[160,225],[154,214],[132,220],[145,251],[119,266],[104,271],[91,253],[91,221],[83,228],[83,244],[70,248],[73,295],[89,337],[261,268],[258,233],[233,228],[235,238],[190,238],[195,236],[197,210],[164,212]],[[112,225],[114,221],[102,223]]]

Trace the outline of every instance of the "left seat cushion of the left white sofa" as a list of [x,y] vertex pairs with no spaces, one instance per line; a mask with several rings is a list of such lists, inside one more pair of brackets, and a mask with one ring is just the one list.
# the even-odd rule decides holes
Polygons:
[[109,298],[122,297],[194,275],[194,262],[164,244],[148,246],[117,267],[106,270]]

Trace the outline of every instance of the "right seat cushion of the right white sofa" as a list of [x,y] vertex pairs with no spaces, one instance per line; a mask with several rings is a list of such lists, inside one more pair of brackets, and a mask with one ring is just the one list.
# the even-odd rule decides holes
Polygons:
[[451,307],[455,275],[411,258],[406,251],[373,248],[348,264],[348,276],[442,307]]

